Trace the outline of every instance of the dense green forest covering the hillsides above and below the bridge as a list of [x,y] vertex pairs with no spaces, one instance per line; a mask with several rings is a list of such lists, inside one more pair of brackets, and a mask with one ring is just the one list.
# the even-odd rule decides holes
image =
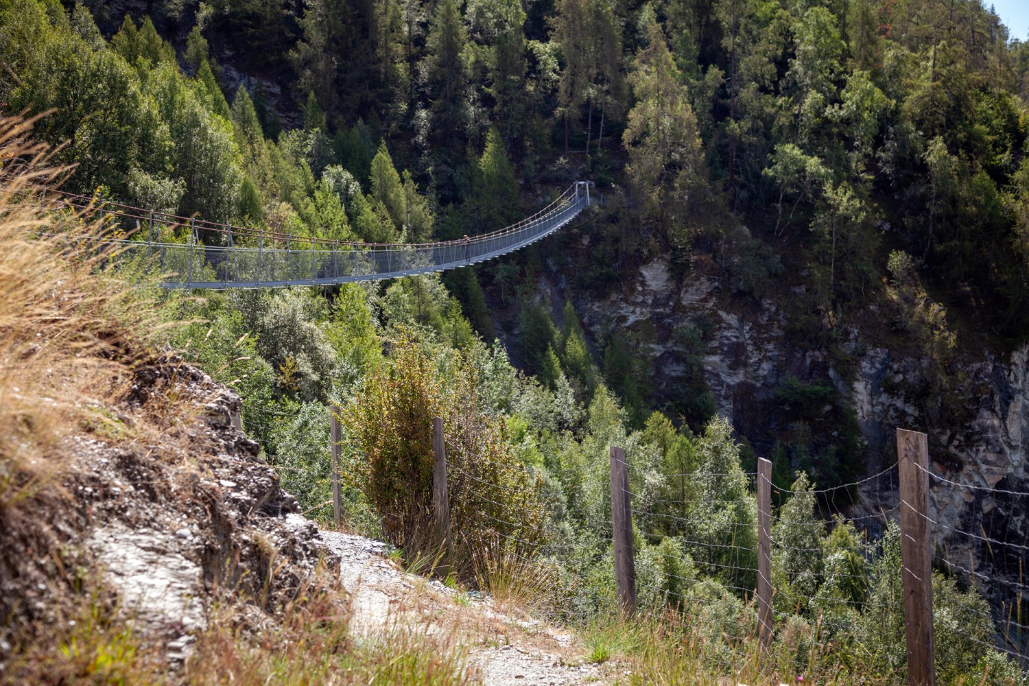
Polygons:
[[[545,244],[577,292],[601,298],[662,256],[741,306],[791,294],[791,342],[842,369],[856,328],[917,351],[938,424],[965,411],[967,349],[1029,340],[1029,45],[979,0],[2,0],[0,103],[42,114],[35,134],[73,168],[63,188],[98,208],[300,246],[475,236],[592,180],[603,203]],[[339,407],[348,527],[412,559],[434,545],[442,418],[448,573],[489,591],[529,561],[580,625],[616,611],[610,445],[632,465],[641,608],[701,603],[715,644],[752,625],[751,471],[772,454],[791,659],[900,679],[899,530],[818,491],[872,467],[853,410],[790,376],[777,394],[799,424],[755,447],[706,387],[710,322],[675,331],[688,383],[659,393],[645,331],[591,335],[571,299],[542,303],[548,259],[162,292],[162,345],[240,394],[245,432],[324,525]],[[1029,683],[986,647],[974,584],[933,584],[941,683]],[[839,649],[803,647],[817,640]]]

